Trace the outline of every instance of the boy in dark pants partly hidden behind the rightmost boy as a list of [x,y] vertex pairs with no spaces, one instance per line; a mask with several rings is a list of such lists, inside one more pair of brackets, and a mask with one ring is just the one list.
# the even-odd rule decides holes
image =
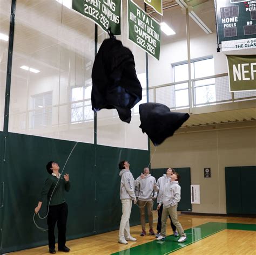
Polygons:
[[[157,203],[160,202],[161,196],[163,195],[163,191],[164,191],[164,185],[165,183],[169,182],[171,179],[171,175],[175,173],[175,170],[173,168],[167,168],[166,169],[166,174],[164,174],[163,176],[161,176],[160,178],[158,178],[157,180],[157,186],[159,188],[158,191],[158,196],[157,196]],[[157,235],[156,237],[159,237],[160,232],[161,232],[161,217],[162,217],[162,212],[163,212],[163,204],[160,206],[159,210],[157,211],[158,213],[158,220],[157,220]],[[170,218],[170,222],[171,222],[171,228],[173,231],[173,235],[174,236],[178,236],[178,232],[176,230],[176,226],[174,226],[174,224],[172,223],[171,220],[171,216],[169,215]]]

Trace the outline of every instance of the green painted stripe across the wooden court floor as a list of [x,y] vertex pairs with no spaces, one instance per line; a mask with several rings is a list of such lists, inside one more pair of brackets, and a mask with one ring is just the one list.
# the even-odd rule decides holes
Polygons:
[[171,235],[167,236],[164,241],[152,240],[152,242],[112,253],[112,255],[167,255],[225,229],[256,231],[256,224],[208,222],[185,230],[187,240],[184,243],[178,243],[179,237]]

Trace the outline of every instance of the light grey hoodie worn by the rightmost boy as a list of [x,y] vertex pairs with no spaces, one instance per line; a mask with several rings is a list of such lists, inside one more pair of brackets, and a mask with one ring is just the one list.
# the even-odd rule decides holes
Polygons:
[[170,206],[178,205],[180,201],[180,185],[178,181],[167,182],[164,185],[164,192],[160,198],[159,204],[163,204],[165,209]]

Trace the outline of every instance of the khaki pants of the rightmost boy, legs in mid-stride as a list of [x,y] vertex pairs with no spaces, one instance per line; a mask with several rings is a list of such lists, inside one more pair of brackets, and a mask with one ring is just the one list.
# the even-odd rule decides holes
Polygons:
[[162,218],[161,218],[161,222],[162,222],[161,236],[164,236],[164,237],[166,236],[166,222],[167,222],[167,218],[169,215],[171,216],[172,223],[177,228],[179,236],[186,236],[181,224],[178,221],[177,205],[170,206],[167,209],[165,209],[165,208],[163,209]]

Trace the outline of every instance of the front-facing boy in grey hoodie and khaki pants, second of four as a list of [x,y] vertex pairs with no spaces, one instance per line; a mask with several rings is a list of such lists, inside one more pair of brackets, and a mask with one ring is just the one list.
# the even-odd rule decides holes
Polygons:
[[151,176],[149,168],[145,167],[143,175],[137,178],[136,195],[138,196],[138,206],[140,212],[140,223],[142,224],[142,233],[140,236],[146,235],[146,220],[145,220],[145,207],[147,208],[147,216],[149,217],[149,232],[150,235],[154,235],[153,230],[153,199],[157,198],[157,182],[156,178]]

